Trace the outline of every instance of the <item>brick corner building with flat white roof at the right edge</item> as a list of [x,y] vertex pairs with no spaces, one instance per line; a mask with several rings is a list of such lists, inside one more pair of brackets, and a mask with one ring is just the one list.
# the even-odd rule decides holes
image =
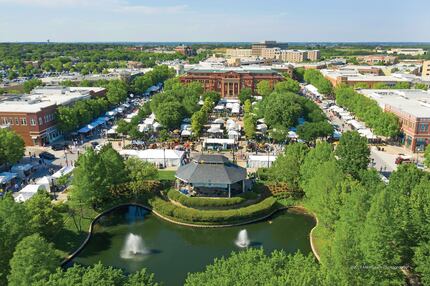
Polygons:
[[430,91],[363,89],[359,92],[399,118],[405,148],[413,152],[425,150],[430,143]]

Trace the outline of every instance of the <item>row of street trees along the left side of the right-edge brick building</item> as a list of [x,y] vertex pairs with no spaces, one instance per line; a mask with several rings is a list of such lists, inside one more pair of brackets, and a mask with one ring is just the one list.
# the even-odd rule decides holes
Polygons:
[[384,112],[378,103],[356,92],[352,87],[340,86],[335,90],[336,103],[345,107],[358,119],[373,129],[375,134],[394,137],[400,132],[397,117],[389,112]]

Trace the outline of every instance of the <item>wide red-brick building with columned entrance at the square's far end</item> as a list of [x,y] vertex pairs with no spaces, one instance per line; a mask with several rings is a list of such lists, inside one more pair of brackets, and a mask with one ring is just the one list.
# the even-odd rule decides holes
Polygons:
[[283,80],[283,76],[271,68],[225,67],[194,68],[180,77],[181,82],[201,82],[206,91],[216,91],[221,97],[238,97],[242,88],[251,88],[257,94],[257,84],[268,80],[273,86]]

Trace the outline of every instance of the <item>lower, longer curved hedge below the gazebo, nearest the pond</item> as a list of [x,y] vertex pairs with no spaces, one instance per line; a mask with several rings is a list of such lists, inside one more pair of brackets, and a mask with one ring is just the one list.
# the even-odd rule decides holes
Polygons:
[[274,197],[247,207],[231,210],[198,210],[172,204],[156,196],[149,200],[152,208],[161,215],[174,220],[199,224],[228,224],[246,221],[269,214],[278,207]]

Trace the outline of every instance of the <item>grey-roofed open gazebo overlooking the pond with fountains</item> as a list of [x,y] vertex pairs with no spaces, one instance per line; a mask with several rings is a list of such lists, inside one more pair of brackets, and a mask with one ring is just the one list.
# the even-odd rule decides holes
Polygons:
[[181,192],[207,197],[231,197],[245,192],[246,169],[223,155],[200,155],[176,171]]

